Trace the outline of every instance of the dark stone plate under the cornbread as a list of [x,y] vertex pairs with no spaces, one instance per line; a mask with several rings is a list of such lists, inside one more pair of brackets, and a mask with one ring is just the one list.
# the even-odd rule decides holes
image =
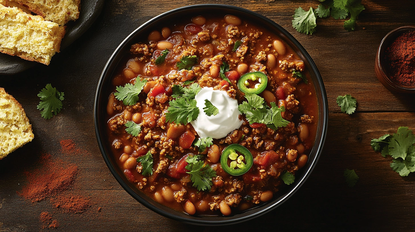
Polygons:
[[[103,5],[104,0],[81,0],[79,18],[66,24],[66,34],[61,42],[61,52],[88,30],[95,19],[97,19]],[[53,59],[51,62],[53,62]],[[0,53],[0,74],[16,74],[32,68],[36,64],[37,62],[35,61]]]

